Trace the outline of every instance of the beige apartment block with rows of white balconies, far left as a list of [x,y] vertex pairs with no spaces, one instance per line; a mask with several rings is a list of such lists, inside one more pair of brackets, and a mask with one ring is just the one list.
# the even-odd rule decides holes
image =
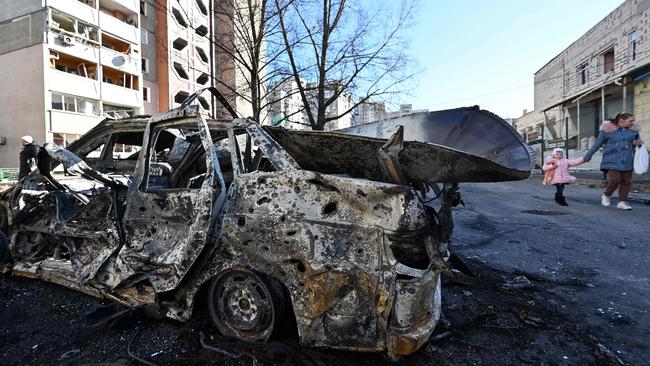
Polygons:
[[143,112],[137,0],[0,0],[0,168],[19,137],[66,146]]

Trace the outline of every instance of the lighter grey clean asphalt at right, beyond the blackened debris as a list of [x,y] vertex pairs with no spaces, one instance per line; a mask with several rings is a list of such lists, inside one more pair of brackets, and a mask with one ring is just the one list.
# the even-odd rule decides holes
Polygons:
[[[454,249],[503,273],[555,284],[561,311],[584,322],[631,364],[650,355],[650,205],[622,211],[602,191],[571,185],[569,203],[540,180],[464,184]],[[616,197],[616,195],[614,195]],[[645,355],[645,357],[644,357]]]

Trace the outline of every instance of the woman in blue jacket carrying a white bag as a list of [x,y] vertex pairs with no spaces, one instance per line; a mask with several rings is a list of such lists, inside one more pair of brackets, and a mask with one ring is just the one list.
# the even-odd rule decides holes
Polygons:
[[639,139],[640,129],[632,113],[619,113],[612,120],[600,125],[598,139],[585,154],[584,160],[587,162],[601,146],[603,147],[600,169],[607,170],[607,187],[600,200],[603,206],[609,206],[610,198],[618,188],[619,202],[616,207],[622,210],[632,209],[627,198],[634,170],[634,145],[643,144]]

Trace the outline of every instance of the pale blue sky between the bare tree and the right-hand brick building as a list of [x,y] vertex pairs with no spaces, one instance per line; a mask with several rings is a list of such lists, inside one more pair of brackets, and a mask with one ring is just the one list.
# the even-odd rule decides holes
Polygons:
[[519,117],[533,109],[533,74],[622,3],[421,0],[411,47],[424,72],[404,101]]

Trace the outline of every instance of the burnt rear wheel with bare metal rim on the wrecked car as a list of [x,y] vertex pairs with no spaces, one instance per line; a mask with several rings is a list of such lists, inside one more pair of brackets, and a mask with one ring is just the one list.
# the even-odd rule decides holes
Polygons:
[[214,278],[208,288],[208,312],[219,332],[244,342],[265,342],[282,308],[275,286],[265,276],[234,268]]

